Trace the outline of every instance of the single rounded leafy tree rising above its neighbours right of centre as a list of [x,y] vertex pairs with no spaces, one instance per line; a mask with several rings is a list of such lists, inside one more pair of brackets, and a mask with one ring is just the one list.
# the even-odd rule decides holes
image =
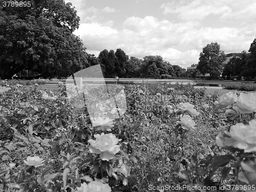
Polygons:
[[[200,53],[197,69],[202,73],[216,74],[214,71],[222,71],[221,65],[226,60],[224,51],[220,50],[220,45],[217,42],[211,42],[203,48]],[[212,71],[212,72],[211,72]]]

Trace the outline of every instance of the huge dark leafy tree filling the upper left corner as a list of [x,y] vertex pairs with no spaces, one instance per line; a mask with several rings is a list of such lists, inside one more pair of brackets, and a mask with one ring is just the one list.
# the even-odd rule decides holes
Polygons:
[[42,77],[63,77],[87,67],[82,41],[72,34],[78,26],[74,7],[63,0],[32,1],[31,7],[1,7],[1,79],[23,69]]

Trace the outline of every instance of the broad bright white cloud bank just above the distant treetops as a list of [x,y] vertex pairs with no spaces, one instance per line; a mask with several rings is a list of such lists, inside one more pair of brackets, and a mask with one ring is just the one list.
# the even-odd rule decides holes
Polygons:
[[[245,36],[246,33],[250,35]],[[210,28],[198,22],[176,24],[153,16],[132,16],[123,22],[119,30],[113,25],[92,23],[81,24],[75,34],[80,35],[88,53],[96,56],[104,49],[115,51],[121,48],[129,56],[161,55],[172,65],[186,68],[198,62],[202,48],[210,42],[218,42],[226,53],[248,51],[256,26]]]

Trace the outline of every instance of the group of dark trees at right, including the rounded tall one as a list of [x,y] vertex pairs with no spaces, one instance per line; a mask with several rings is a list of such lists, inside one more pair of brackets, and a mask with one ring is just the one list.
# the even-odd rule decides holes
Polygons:
[[200,53],[197,70],[203,75],[209,73],[211,79],[219,78],[221,73],[227,79],[234,77],[241,79],[242,76],[247,79],[256,77],[256,38],[249,48],[249,53],[242,51],[223,65],[225,60],[226,55],[220,50],[220,45],[211,42]]

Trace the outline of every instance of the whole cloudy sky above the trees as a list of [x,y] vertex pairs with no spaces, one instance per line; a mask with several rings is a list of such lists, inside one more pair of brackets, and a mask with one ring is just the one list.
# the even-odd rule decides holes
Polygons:
[[65,0],[80,17],[74,33],[87,52],[120,48],[129,57],[160,55],[182,68],[218,42],[226,54],[256,38],[255,0]]

